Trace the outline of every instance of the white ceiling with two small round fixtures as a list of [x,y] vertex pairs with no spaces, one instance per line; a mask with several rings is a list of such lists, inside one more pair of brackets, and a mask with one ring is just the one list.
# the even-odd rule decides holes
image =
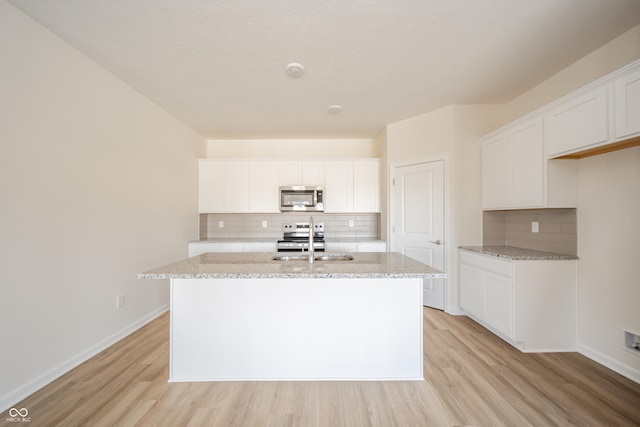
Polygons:
[[208,138],[372,138],[507,102],[640,24],[638,0],[10,1]]

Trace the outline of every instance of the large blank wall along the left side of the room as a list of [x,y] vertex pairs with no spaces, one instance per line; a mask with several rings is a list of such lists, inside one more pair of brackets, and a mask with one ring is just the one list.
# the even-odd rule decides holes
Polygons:
[[0,40],[1,412],[166,309],[205,140],[4,1]]

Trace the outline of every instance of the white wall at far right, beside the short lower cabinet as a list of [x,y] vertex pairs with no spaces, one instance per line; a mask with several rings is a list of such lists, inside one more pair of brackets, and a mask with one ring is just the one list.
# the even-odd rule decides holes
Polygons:
[[640,147],[579,161],[578,343],[586,355],[640,381]]

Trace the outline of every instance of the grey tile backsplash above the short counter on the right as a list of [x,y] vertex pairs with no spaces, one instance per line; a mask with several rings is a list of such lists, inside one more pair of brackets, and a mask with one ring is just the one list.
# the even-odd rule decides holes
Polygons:
[[[484,211],[482,243],[577,255],[576,209]],[[531,231],[531,223],[539,232]]]

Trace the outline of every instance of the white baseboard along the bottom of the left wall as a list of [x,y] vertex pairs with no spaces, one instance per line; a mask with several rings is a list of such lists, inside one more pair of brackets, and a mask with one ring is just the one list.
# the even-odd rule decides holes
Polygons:
[[21,400],[25,399],[26,397],[40,390],[42,387],[46,386],[47,384],[51,383],[52,381],[66,374],[67,372],[71,371],[73,368],[77,367],[78,365],[86,362],[96,354],[100,353],[101,351],[105,350],[106,348],[110,347],[111,345],[115,344],[121,339],[125,338],[129,334],[140,329],[141,327],[151,322],[153,319],[160,316],[162,313],[166,312],[167,310],[169,310],[169,304],[166,304],[158,308],[157,310],[152,311],[151,313],[133,322],[129,326],[125,327],[124,329],[100,341],[96,345],[86,349],[82,353],[72,357],[66,362],[59,364],[58,366],[54,367],[53,369],[50,369],[44,374],[32,379],[31,381],[20,386],[16,390],[0,397],[0,413],[5,412],[7,409],[11,408],[16,403],[20,402]]

